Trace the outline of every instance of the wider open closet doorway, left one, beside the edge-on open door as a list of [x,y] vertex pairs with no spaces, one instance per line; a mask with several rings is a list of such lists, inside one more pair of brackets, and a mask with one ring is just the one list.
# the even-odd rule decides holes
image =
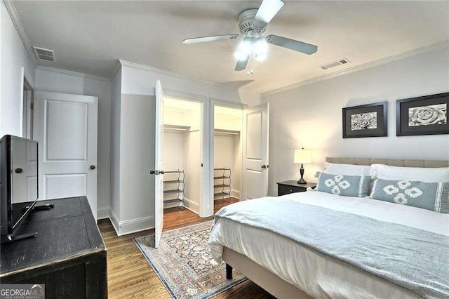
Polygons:
[[202,185],[202,103],[163,99],[164,229],[199,218]]

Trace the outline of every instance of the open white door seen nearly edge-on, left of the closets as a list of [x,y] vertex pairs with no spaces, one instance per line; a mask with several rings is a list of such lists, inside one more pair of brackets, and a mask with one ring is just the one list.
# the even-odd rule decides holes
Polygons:
[[[154,247],[159,247],[163,227],[163,91],[161,81],[156,81],[156,113],[154,115]],[[162,172],[162,173],[161,173]]]

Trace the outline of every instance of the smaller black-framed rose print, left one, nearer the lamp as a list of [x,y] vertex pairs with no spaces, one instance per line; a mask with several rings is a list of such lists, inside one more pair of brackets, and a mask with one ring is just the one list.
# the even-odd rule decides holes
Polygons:
[[343,108],[343,138],[387,136],[387,102]]

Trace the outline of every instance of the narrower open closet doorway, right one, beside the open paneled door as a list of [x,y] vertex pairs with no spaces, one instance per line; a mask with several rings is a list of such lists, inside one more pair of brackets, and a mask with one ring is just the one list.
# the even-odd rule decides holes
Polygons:
[[219,206],[240,200],[242,109],[214,106],[213,199]]

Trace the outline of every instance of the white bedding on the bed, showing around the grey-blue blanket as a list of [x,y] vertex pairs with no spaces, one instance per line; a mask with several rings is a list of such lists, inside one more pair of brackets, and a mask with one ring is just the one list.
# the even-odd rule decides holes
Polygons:
[[[408,225],[449,237],[448,214],[317,191],[293,193],[284,197],[301,204]],[[275,201],[276,197],[272,199]],[[295,221],[295,215],[288,217]],[[372,274],[354,270],[339,260],[326,257],[267,230],[220,218],[213,227],[209,240],[213,258],[218,262],[221,261],[223,246],[226,246],[248,256],[314,298],[410,298],[410,293],[404,288]]]

